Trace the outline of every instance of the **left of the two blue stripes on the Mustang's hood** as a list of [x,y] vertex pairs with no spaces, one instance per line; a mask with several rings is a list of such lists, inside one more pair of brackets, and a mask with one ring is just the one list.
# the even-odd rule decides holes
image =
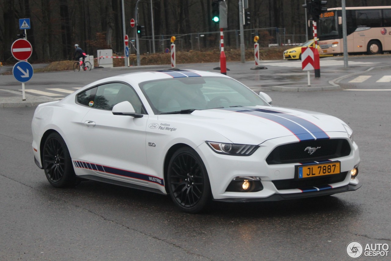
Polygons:
[[222,108],[221,110],[229,110],[232,112],[240,112],[245,113],[249,115],[254,115],[256,117],[264,118],[269,121],[276,122],[286,128],[287,130],[291,131],[293,135],[295,135],[300,141],[301,140],[315,140],[314,136],[311,135],[305,128],[301,127],[299,124],[289,121],[288,119],[285,119],[283,117],[279,117],[277,115],[274,115],[272,113],[264,113],[264,112],[257,112],[255,110],[248,110],[248,109],[238,109],[238,108]]

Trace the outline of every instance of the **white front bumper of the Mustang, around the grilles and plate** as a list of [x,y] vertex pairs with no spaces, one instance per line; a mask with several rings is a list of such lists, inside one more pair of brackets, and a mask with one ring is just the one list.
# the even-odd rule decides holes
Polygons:
[[[332,138],[341,138],[337,133],[329,133],[329,135],[330,137],[334,136]],[[294,139],[294,137],[288,136],[267,140],[253,155],[244,157],[217,154],[206,144],[199,146],[197,153],[201,156],[208,171],[213,199],[239,202],[274,201],[275,198],[282,200],[341,193],[358,189],[361,186],[359,180],[357,178],[352,180],[350,175],[350,170],[357,167],[360,162],[357,144],[352,144],[350,141],[352,148],[350,155],[332,159],[341,162],[341,175],[339,175],[341,178],[335,176],[335,179],[319,178],[314,183],[296,184],[296,182],[291,182],[294,185],[281,185],[284,181],[290,182],[295,179],[295,168],[298,163],[268,165],[266,158],[276,146],[291,143]],[[232,180],[240,176],[257,178],[262,183],[262,190],[254,192],[227,190]],[[353,186],[351,188],[355,189],[340,189],[346,186]]]

